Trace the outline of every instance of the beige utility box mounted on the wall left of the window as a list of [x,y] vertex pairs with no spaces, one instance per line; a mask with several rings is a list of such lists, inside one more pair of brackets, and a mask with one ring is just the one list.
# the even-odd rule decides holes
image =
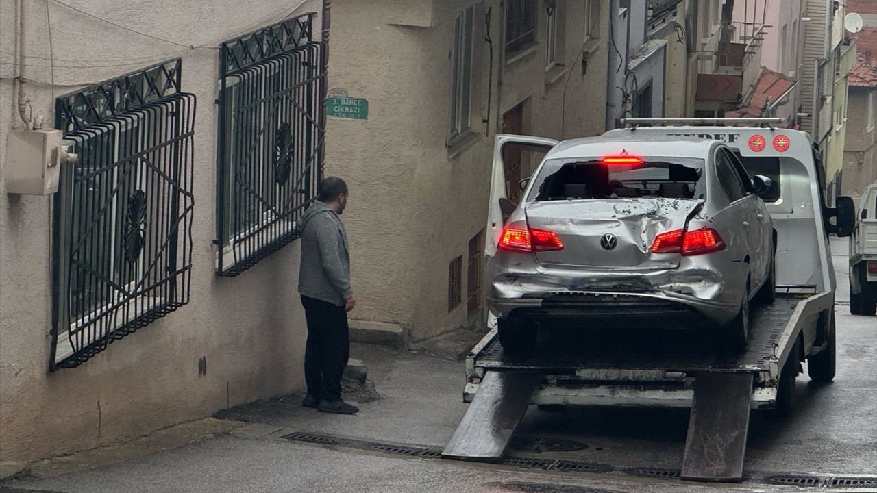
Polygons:
[[48,195],[58,191],[61,165],[75,161],[60,130],[13,130],[6,148],[6,192]]

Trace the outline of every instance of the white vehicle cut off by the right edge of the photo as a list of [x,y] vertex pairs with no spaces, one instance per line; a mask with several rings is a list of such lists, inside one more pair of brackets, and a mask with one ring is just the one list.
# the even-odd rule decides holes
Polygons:
[[877,182],[862,193],[850,238],[850,311],[853,315],[877,313]]

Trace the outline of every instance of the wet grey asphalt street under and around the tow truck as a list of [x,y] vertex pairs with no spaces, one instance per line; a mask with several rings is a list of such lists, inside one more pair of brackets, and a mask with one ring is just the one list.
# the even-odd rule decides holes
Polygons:
[[[816,386],[799,375],[795,415],[752,413],[745,471],[739,484],[673,479],[681,465],[688,411],[585,408],[560,412],[531,406],[501,465],[444,461],[428,451],[445,446],[466,404],[460,401],[463,363],[454,358],[355,345],[374,391],[358,394],[357,416],[333,416],[289,396],[232,409],[230,432],[138,459],[85,464],[80,472],[6,482],[0,492],[160,491],[781,491],[816,490],[774,484],[793,473],[828,477],[877,476],[877,324],[848,310],[845,240],[832,240],[838,278],[838,376]],[[453,343],[442,342],[453,347]],[[461,347],[461,341],[456,346]],[[433,354],[450,354],[431,351]],[[297,434],[296,434],[297,433]],[[290,437],[290,435],[292,435]],[[339,439],[326,438],[336,437]],[[317,442],[317,443],[315,443]],[[573,449],[573,450],[570,450]],[[74,456],[75,457],[75,456]],[[530,462],[526,465],[524,458]],[[70,461],[75,461],[72,459]],[[582,471],[545,466],[578,464]],[[54,462],[63,470],[64,460]],[[68,461],[69,462],[69,461]],[[516,465],[517,464],[517,465]],[[545,470],[545,469],[549,470]],[[88,470],[84,470],[88,469]],[[56,474],[56,473],[55,473]],[[670,479],[650,477],[667,475]],[[53,477],[48,477],[53,476]],[[856,491],[877,489],[856,488]]]

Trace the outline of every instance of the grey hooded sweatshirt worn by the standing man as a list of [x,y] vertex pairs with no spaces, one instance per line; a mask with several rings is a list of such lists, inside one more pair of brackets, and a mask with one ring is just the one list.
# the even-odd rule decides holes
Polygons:
[[315,202],[302,218],[302,263],[298,292],[336,306],[353,296],[347,232],[328,205]]

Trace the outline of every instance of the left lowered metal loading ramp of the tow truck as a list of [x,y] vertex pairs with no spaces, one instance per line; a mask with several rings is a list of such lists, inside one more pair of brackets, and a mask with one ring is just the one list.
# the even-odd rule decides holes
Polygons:
[[541,380],[538,372],[485,372],[442,458],[500,461]]

